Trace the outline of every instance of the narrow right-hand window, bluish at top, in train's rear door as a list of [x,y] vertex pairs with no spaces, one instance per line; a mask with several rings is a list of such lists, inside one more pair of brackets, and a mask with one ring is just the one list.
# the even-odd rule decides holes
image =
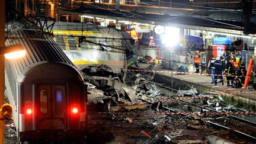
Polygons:
[[63,92],[62,89],[56,89],[55,91],[55,107],[56,114],[63,113]]

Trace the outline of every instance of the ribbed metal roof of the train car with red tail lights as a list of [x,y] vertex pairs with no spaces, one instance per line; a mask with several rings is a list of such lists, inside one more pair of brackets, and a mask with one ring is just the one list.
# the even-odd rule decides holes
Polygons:
[[25,75],[34,66],[46,62],[63,63],[75,68],[71,60],[57,46],[55,41],[40,30],[18,29],[8,32],[5,45],[11,46],[14,44],[21,44],[27,52],[24,57],[8,60],[9,66],[14,66],[13,71],[17,78],[20,75]]

